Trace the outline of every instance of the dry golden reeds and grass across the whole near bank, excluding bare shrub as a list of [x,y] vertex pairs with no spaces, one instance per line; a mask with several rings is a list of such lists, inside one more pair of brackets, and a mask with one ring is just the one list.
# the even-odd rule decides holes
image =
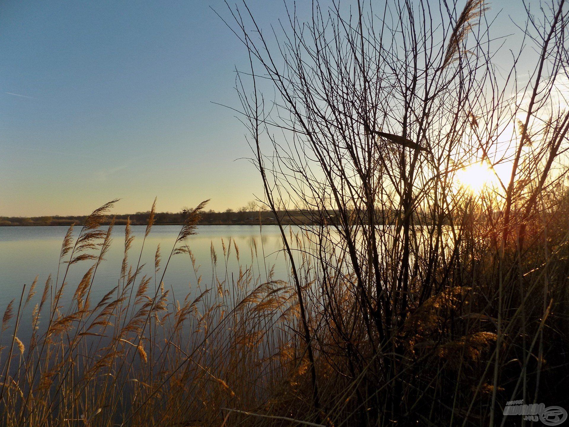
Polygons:
[[[370,339],[357,313],[361,296],[347,249],[338,244],[341,236],[325,225],[287,229],[287,262],[295,263],[302,280],[311,360],[296,288],[288,283],[292,273],[283,281],[271,269],[228,269],[230,258],[242,263],[250,256],[245,264],[262,265],[262,248],[251,245],[244,254],[229,241],[216,253],[212,244],[212,281],[204,283],[191,251],[203,205],[188,216],[170,252],[158,247],[148,260],[154,276],[141,276],[143,245],[130,253],[134,237],[127,225],[117,284],[92,301],[113,232],[98,225],[112,207],[106,204],[75,239],[69,228],[57,275],[43,289],[37,280],[23,289],[3,315],[2,425],[391,425],[396,391],[402,391],[398,416],[404,425],[485,425],[495,389],[498,399],[538,393],[538,400],[557,403],[569,350],[569,204],[558,206],[547,227],[551,251],[535,249],[524,258],[531,270],[523,290],[516,286],[519,278],[510,279],[501,297],[497,276],[504,267],[496,263],[503,261],[490,250],[487,224],[471,215],[461,227],[460,249],[450,254],[459,263],[452,272],[436,272],[452,284],[417,305],[424,288],[411,288],[413,308],[392,338],[397,353],[378,348],[379,335]],[[141,239],[151,228],[150,222]],[[335,245],[317,258],[322,239]],[[453,243],[450,237],[448,245]],[[188,257],[196,277],[183,299],[172,299],[163,282],[174,256]],[[422,256],[419,264],[428,253]],[[76,284],[67,282],[71,269],[85,271]],[[66,290],[72,298],[64,306]],[[34,306],[31,319],[23,318],[27,305]],[[500,377],[494,383],[500,327]],[[394,375],[387,358],[400,362]]]

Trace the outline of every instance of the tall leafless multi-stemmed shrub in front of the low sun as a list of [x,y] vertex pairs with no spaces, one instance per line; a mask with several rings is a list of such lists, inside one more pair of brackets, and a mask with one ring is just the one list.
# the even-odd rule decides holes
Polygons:
[[[237,89],[267,204],[276,212],[276,200],[290,200],[288,207],[320,224],[304,230],[312,241],[303,252],[319,267],[312,278],[299,276],[294,239],[279,224],[294,272],[313,404],[362,424],[423,423],[417,408],[443,399],[440,387],[468,389],[449,393],[437,414],[431,412],[435,424],[452,424],[456,413],[473,413],[489,384],[491,399],[477,416],[493,425],[499,372],[518,354],[515,346],[526,360],[535,344],[510,340],[509,350],[500,351],[505,325],[521,321],[523,336],[529,333],[525,301],[535,283],[512,290],[543,262],[522,258],[527,228],[545,212],[539,210],[544,191],[566,173],[569,116],[554,89],[565,76],[567,7],[563,0],[542,7],[541,22],[528,10],[522,31],[541,53],[525,87],[517,77],[520,53],[508,73],[496,71],[483,0],[375,7],[357,1],[353,9],[336,2],[324,9],[314,2],[309,22],[289,9],[275,38],[265,35],[246,3],[230,9],[230,28],[249,52],[251,66],[238,73]],[[270,102],[265,88],[276,93]],[[471,165],[488,168],[496,183],[483,192],[461,186],[457,173]],[[503,166],[511,169],[505,183],[497,171]],[[543,227],[532,228],[533,239],[543,239]],[[516,274],[514,258],[523,264]],[[473,281],[486,302],[476,299]],[[447,329],[448,319],[476,304],[496,319],[496,331],[456,322]],[[534,314],[547,310],[543,305]],[[531,333],[542,327],[532,325]],[[477,354],[493,348],[485,366],[468,368],[477,382],[422,365],[423,356],[450,357],[448,348],[464,343]],[[334,366],[340,383],[350,379],[353,404],[337,403],[338,382],[318,387],[319,363]],[[519,381],[527,380],[525,369]]]

